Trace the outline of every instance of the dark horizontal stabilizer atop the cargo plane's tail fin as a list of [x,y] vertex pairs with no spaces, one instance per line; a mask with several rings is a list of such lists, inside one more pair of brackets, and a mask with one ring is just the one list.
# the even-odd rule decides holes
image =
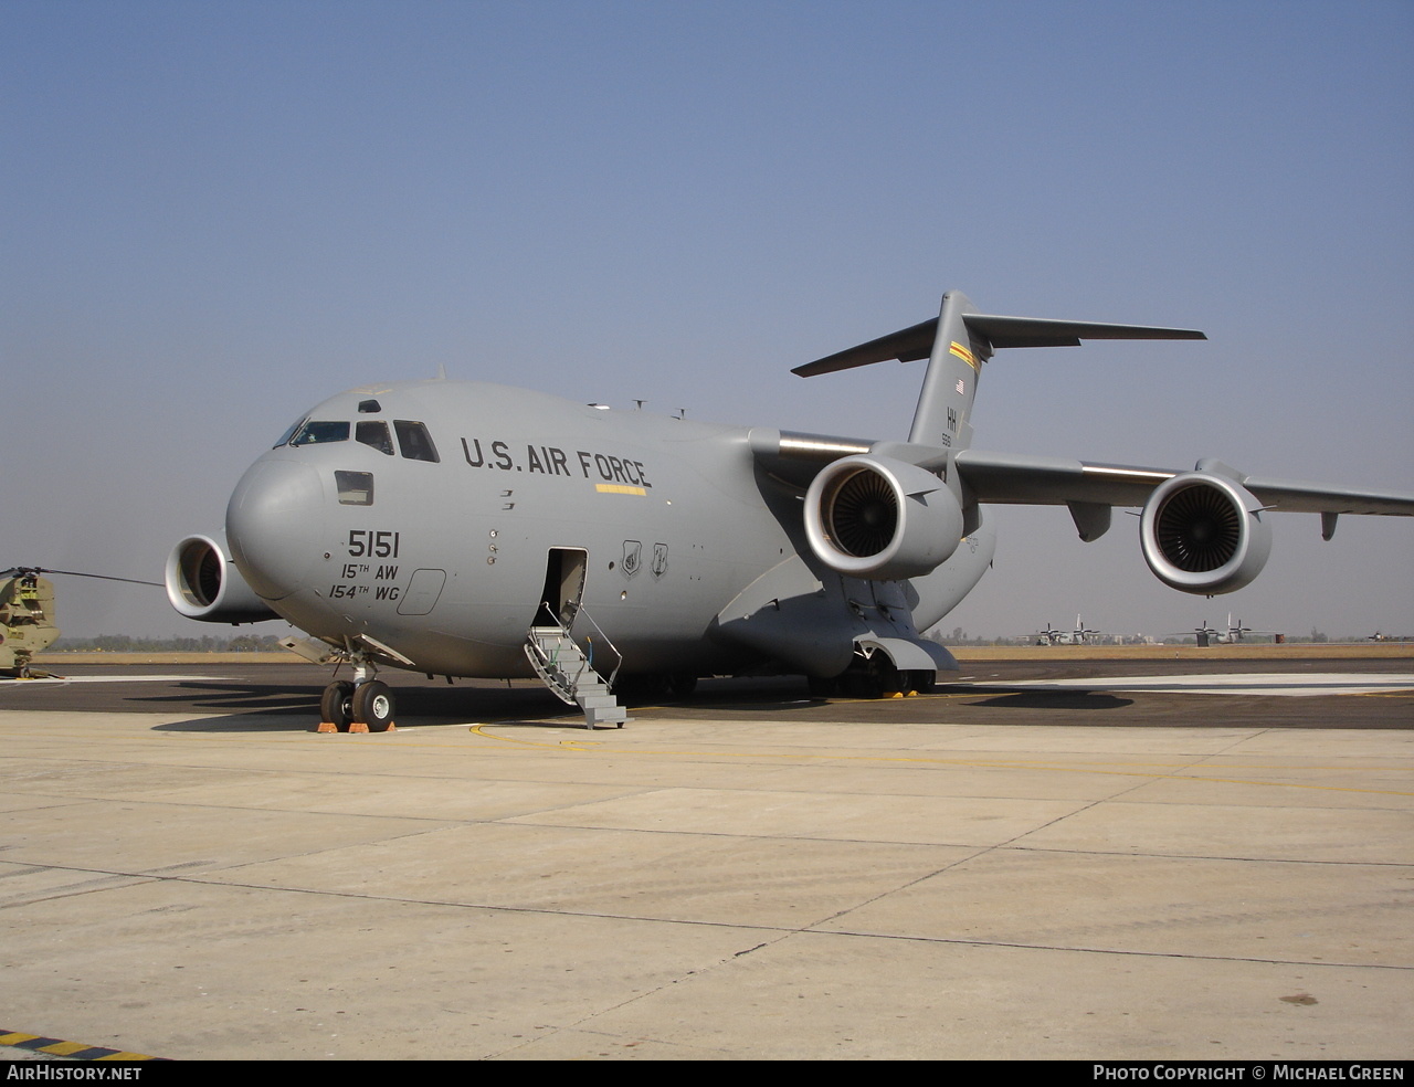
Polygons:
[[[1208,339],[1193,328],[1162,328],[1158,325],[1111,325],[1096,321],[1048,321],[1039,317],[997,317],[993,314],[963,314],[967,331],[987,341],[993,349],[1001,348],[1073,348],[1083,339]],[[857,348],[827,355],[823,359],[796,366],[790,373],[814,377],[819,373],[848,370],[874,362],[898,359],[915,362],[926,359],[937,336],[937,318],[923,321],[887,336],[860,343]]]

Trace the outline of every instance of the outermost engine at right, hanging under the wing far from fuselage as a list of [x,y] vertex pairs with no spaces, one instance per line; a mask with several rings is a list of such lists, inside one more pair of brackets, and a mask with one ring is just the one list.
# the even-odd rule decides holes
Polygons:
[[1159,483],[1140,519],[1144,561],[1165,585],[1208,597],[1234,592],[1267,564],[1271,526],[1232,479],[1184,472]]

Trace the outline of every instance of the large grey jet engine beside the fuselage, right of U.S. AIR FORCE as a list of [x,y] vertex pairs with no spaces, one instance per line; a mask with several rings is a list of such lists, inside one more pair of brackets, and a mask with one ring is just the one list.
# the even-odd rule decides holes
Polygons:
[[816,475],[805,496],[805,530],[830,570],[894,581],[946,563],[963,537],[963,512],[928,469],[858,454]]

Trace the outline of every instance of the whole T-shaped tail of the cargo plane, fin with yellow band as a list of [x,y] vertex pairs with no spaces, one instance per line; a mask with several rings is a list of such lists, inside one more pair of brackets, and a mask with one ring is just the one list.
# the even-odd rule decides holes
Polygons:
[[847,370],[872,362],[928,359],[923,389],[908,440],[918,445],[966,450],[971,445],[971,409],[983,365],[1001,348],[1072,348],[1083,339],[1206,339],[1191,328],[1052,321],[1038,317],[978,314],[962,291],[947,291],[937,317],[857,348],[797,366],[792,373]]

